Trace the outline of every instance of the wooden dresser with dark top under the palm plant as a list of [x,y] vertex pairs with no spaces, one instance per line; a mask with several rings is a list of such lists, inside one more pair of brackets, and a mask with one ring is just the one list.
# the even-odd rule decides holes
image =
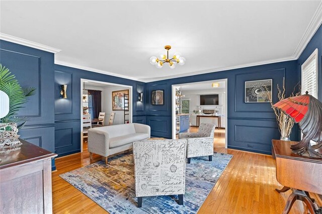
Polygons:
[[0,148],[0,213],[52,213],[51,158],[57,155],[20,141]]

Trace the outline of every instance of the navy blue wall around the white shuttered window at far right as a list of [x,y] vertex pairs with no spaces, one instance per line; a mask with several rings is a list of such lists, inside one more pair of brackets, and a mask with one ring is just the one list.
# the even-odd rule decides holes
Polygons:
[[299,79],[301,78],[301,65],[305,60],[313,53],[315,49],[318,49],[318,99],[322,101],[322,25],[317,29],[316,33],[306,45],[305,49],[301,53],[300,57],[297,60],[298,70],[299,70]]

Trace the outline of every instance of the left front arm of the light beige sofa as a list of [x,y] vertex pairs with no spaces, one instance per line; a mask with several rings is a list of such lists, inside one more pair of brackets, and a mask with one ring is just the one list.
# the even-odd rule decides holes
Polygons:
[[89,129],[88,150],[104,157],[109,156],[109,134],[95,128]]

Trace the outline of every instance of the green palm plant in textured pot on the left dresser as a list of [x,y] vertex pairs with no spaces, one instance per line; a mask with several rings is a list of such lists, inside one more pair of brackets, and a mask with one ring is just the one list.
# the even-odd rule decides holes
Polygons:
[[19,145],[18,131],[26,120],[16,115],[28,97],[35,94],[36,88],[22,88],[16,76],[0,63],[0,91],[9,96],[9,113],[0,119],[0,147]]

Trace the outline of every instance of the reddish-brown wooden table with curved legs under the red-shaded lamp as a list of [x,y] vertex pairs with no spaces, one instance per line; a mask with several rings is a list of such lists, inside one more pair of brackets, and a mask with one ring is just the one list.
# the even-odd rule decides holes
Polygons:
[[[296,200],[302,200],[311,213],[319,207],[308,192],[322,194],[322,159],[309,158],[292,153],[291,145],[298,142],[272,140],[273,156],[276,157],[276,179],[284,185],[278,192],[292,189],[283,214],[290,211]],[[319,151],[321,152],[321,151]]]

